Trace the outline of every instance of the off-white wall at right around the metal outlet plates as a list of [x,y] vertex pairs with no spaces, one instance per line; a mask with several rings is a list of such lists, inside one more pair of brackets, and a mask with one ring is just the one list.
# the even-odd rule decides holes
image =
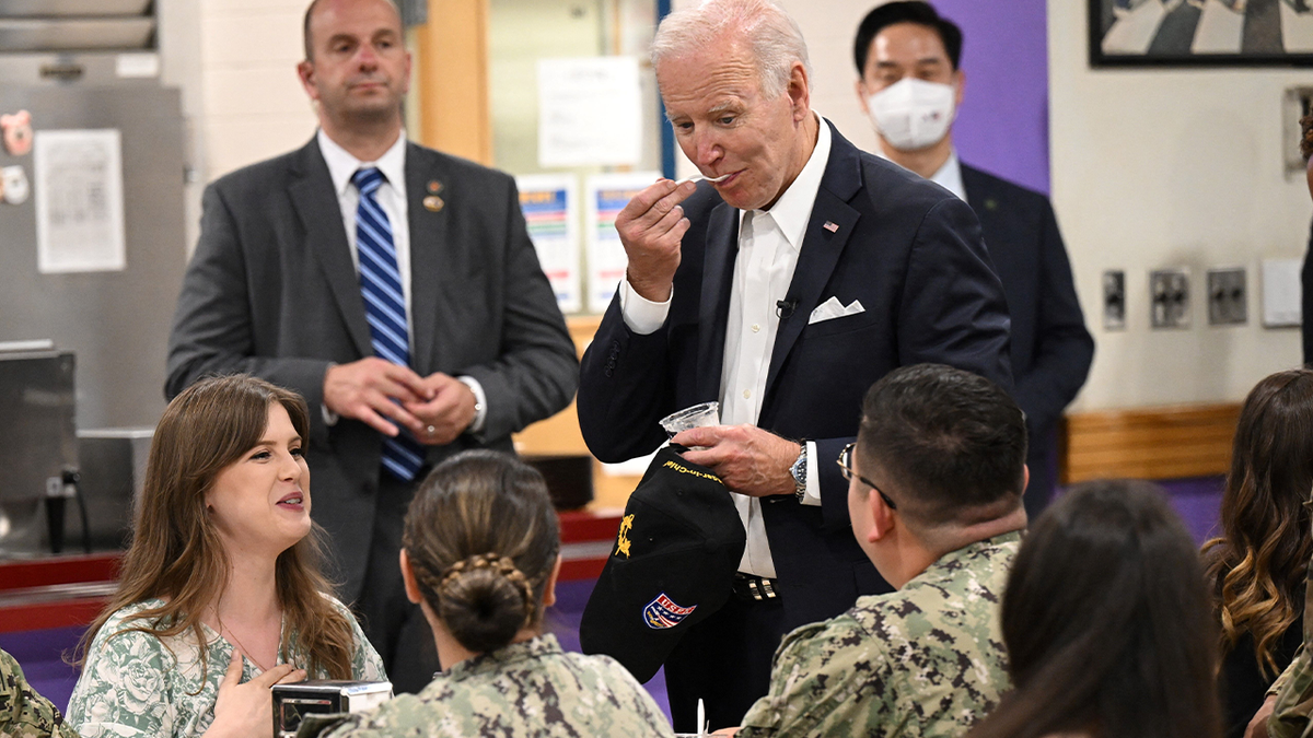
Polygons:
[[[1091,70],[1085,1],[1049,0],[1053,205],[1098,343],[1073,410],[1238,401],[1300,362],[1297,330],[1264,330],[1259,261],[1304,252],[1313,206],[1283,175],[1289,70]],[[1243,265],[1249,324],[1208,326],[1205,271]],[[1149,330],[1154,268],[1191,269],[1188,330]],[[1103,330],[1100,274],[1125,269],[1127,328]]]

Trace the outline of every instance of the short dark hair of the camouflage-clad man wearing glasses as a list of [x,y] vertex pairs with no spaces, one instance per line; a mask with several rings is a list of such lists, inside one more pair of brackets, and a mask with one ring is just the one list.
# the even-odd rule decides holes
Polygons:
[[930,527],[965,521],[1001,502],[1020,504],[1025,415],[978,374],[903,366],[867,391],[857,453],[885,473],[899,512]]

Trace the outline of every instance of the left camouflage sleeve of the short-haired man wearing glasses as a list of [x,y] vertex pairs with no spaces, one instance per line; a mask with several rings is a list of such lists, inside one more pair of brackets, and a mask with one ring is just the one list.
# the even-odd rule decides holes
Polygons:
[[[804,625],[784,637],[771,664],[771,691],[743,717],[741,738],[764,735],[859,735],[852,708],[886,714],[878,699],[888,668],[882,645],[848,616]],[[860,706],[859,706],[860,705]]]

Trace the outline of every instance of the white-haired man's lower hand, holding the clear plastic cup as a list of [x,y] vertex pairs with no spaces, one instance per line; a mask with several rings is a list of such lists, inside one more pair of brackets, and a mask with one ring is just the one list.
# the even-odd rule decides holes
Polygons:
[[756,425],[710,425],[681,431],[671,443],[697,446],[684,458],[705,466],[741,495],[764,498],[797,490],[789,470],[802,452],[797,441],[781,439]]

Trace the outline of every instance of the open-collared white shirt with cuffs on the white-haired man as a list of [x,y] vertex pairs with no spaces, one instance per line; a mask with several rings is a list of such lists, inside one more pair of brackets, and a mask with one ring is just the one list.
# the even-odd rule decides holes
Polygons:
[[[811,158],[789,189],[769,210],[739,211],[738,256],[734,260],[734,286],[725,330],[725,362],[721,370],[721,423],[726,425],[756,424],[765,394],[771,351],[780,327],[776,302],[788,297],[798,251],[806,235],[811,206],[815,204],[830,160],[830,126],[817,116],[819,131]],[[674,297],[674,295],[672,295]],[[625,324],[635,334],[651,334],[666,323],[670,299],[655,303],[645,299],[629,285],[620,282],[620,306]],[[797,319],[805,319],[798,316]],[[806,444],[807,485],[804,504],[821,504],[817,475],[817,449]],[[747,546],[739,571],[775,578],[762,502],[733,492]]]

